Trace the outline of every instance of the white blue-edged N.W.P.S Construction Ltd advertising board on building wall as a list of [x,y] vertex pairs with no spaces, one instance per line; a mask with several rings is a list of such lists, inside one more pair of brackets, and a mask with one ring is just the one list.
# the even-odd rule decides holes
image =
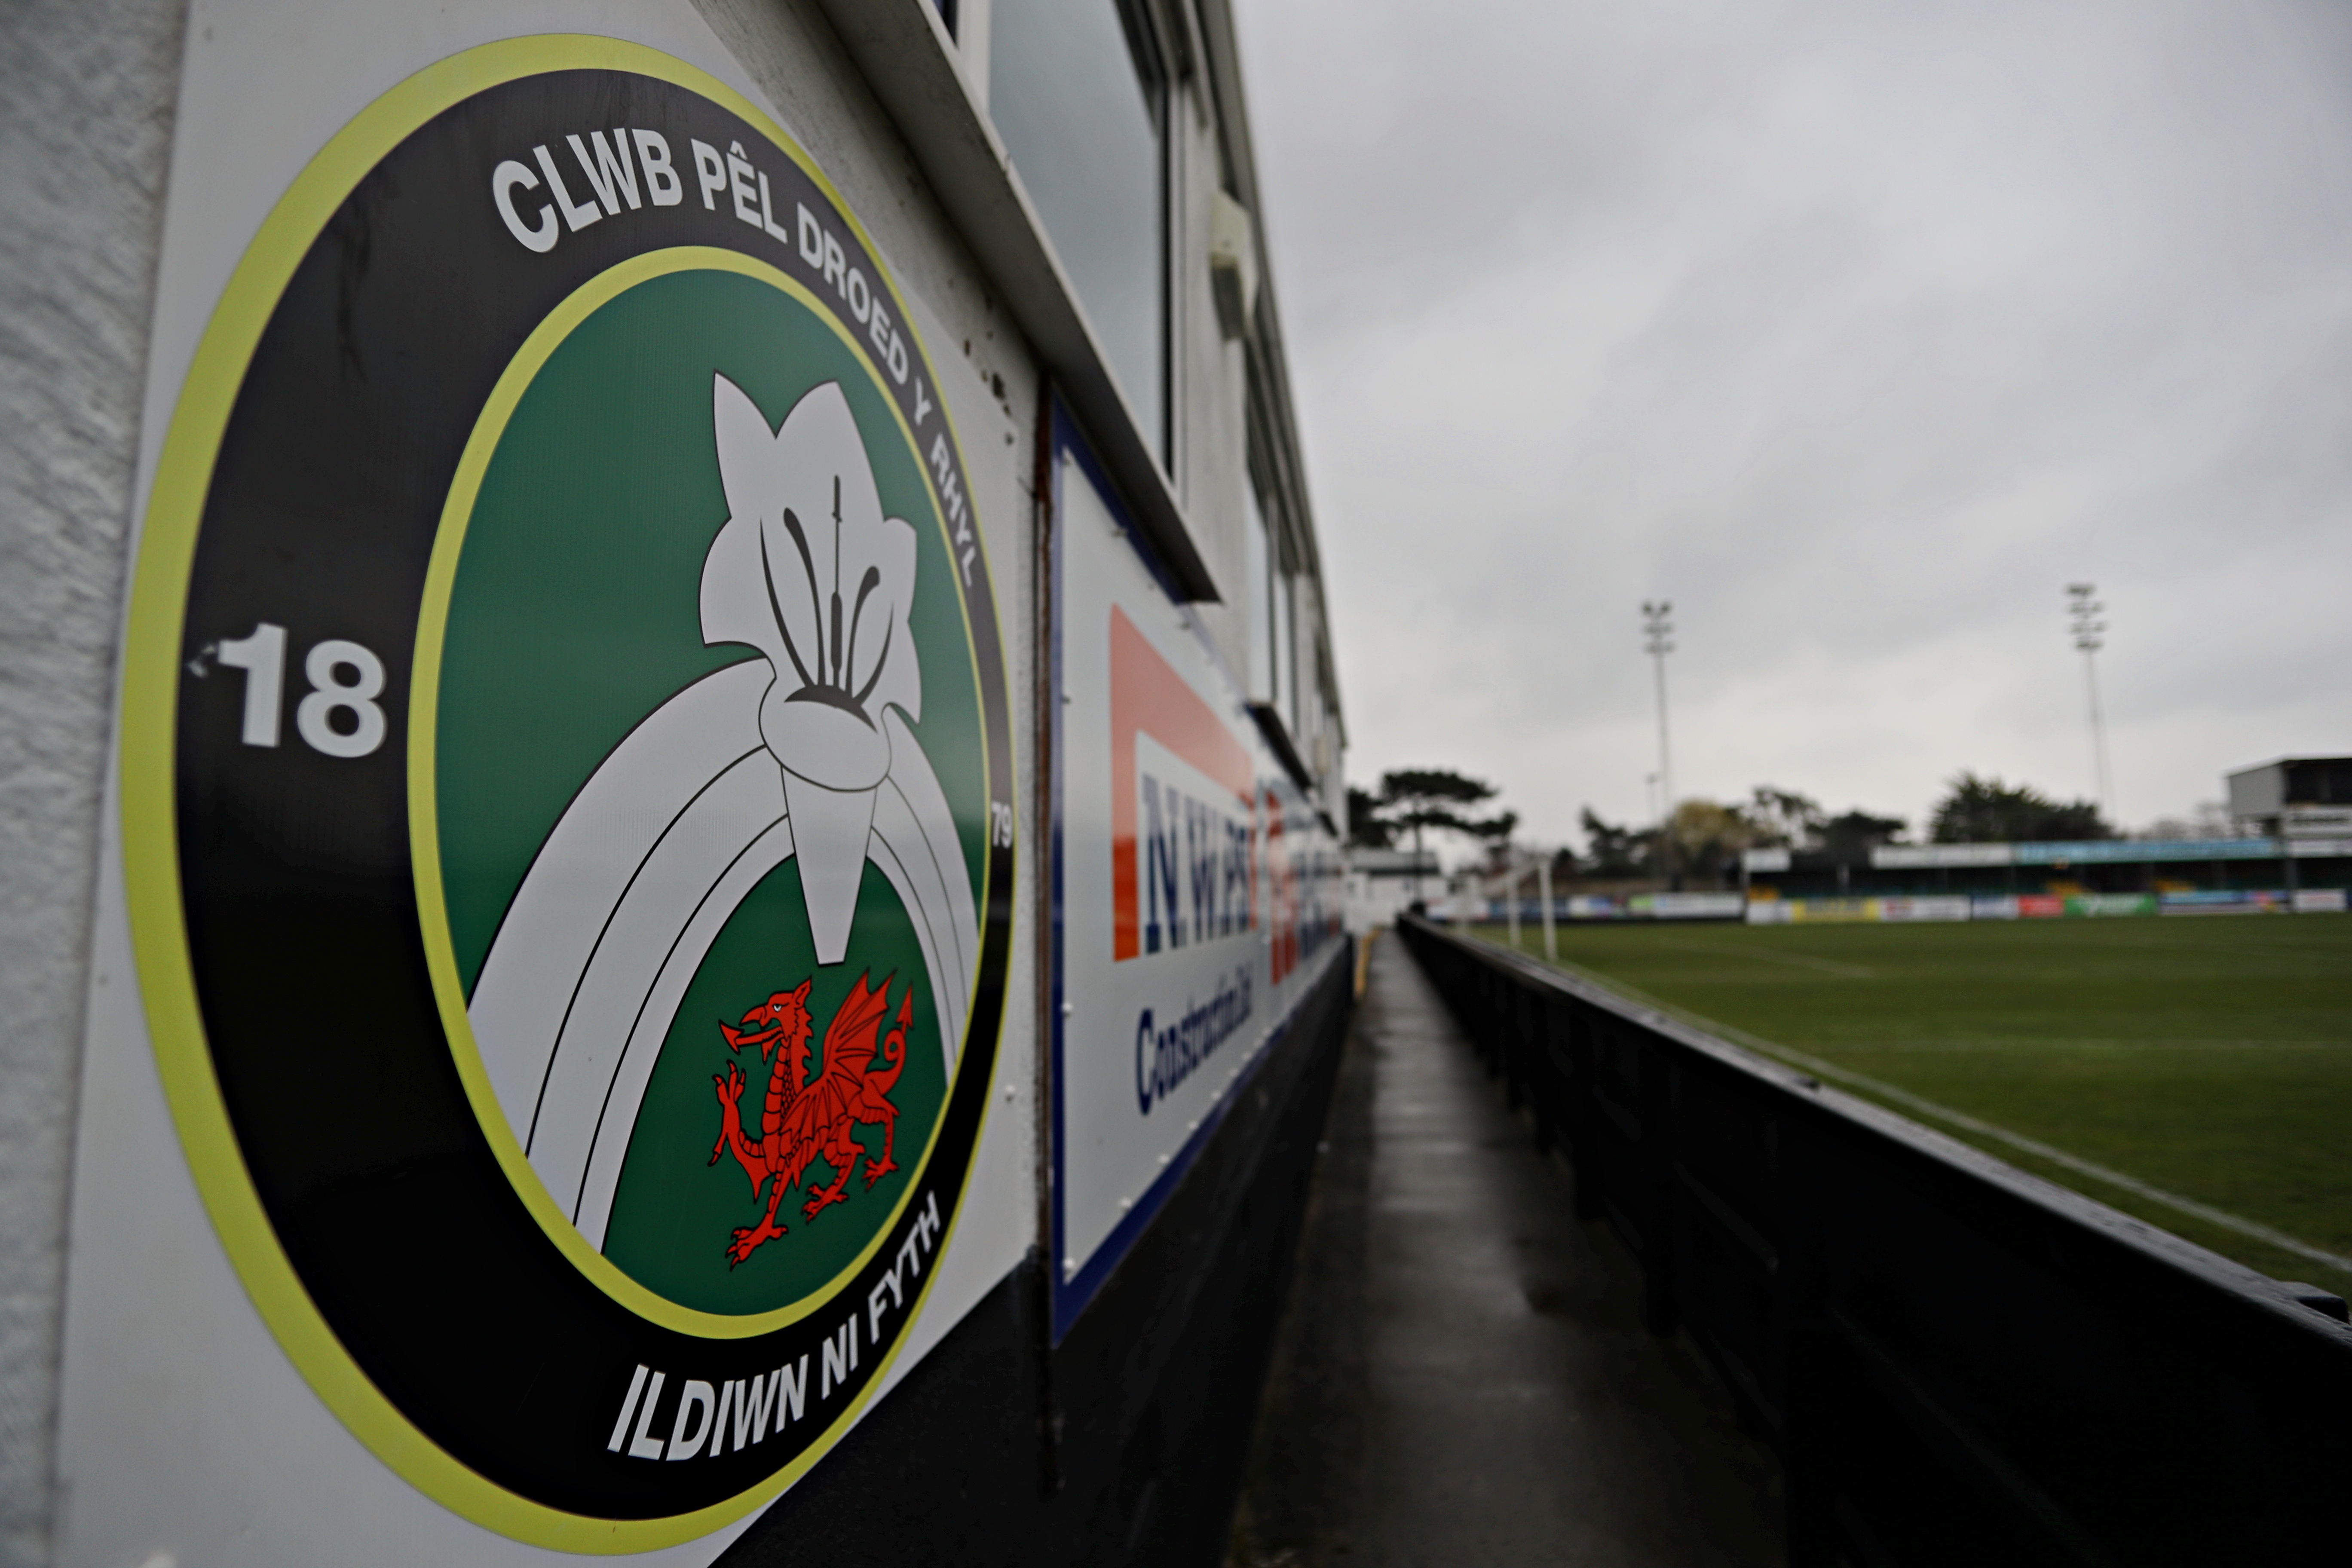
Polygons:
[[1341,846],[1056,409],[1054,1331],[1343,961]]

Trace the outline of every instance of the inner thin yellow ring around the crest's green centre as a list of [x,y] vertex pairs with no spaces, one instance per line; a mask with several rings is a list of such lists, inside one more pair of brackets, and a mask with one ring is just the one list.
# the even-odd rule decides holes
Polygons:
[[[426,567],[426,592],[416,616],[416,661],[409,679],[409,863],[416,867],[416,907],[423,917],[426,969],[433,973],[433,999],[440,1006],[442,1027],[449,1032],[452,1056],[456,1056],[459,1077],[466,1081],[466,1098],[473,1100],[473,1114],[489,1135],[489,1147],[499,1154],[499,1166],[506,1171],[506,1180],[513,1182],[515,1192],[522,1197],[524,1208],[532,1211],[532,1218],[539,1220],[539,1227],[548,1232],[548,1239],[572,1262],[572,1267],[637,1316],[661,1324],[663,1328],[694,1333],[708,1340],[748,1340],[753,1335],[783,1328],[786,1324],[800,1321],[830,1305],[840,1288],[849,1284],[849,1279],[863,1269],[875,1251],[889,1239],[891,1225],[896,1225],[898,1215],[906,1213],[906,1206],[915,1201],[915,1187],[922,1185],[922,1173],[931,1166],[931,1150],[938,1147],[938,1133],[948,1126],[948,1100],[955,1095],[955,1077],[946,1084],[938,1119],[931,1121],[931,1135],[924,1140],[922,1154],[908,1168],[906,1190],[898,1194],[898,1204],[875,1229],[873,1241],[868,1241],[840,1274],[800,1300],[771,1307],[769,1312],[722,1314],[673,1302],[666,1295],[637,1284],[604,1253],[588,1246],[588,1239],[564,1215],[562,1204],[557,1204],[555,1194],[550,1194],[546,1182],[539,1180],[539,1171],[532,1168],[532,1157],[524,1154],[522,1143],[515,1138],[515,1128],[506,1119],[506,1107],[499,1105],[499,1091],[492,1088],[489,1070],[482,1065],[482,1048],[473,1037],[473,1018],[466,1013],[466,985],[459,980],[456,943],[449,936],[449,900],[442,889],[440,870],[440,773],[435,771],[435,745],[440,741],[440,661],[445,637],[449,632],[449,597],[456,592],[456,569],[466,552],[466,534],[473,527],[473,508],[482,491],[482,477],[489,473],[489,463],[499,451],[499,440],[506,435],[506,423],[513,418],[522,395],[532,388],[539,371],[572,336],[572,331],[628,289],[656,277],[673,277],[677,273],[734,273],[739,277],[753,277],[807,306],[816,320],[833,329],[833,336],[837,336],[849,353],[856,355],[858,364],[866,367],[868,378],[882,388],[882,400],[898,418],[898,435],[906,437],[908,451],[915,456],[915,468],[924,475],[924,494],[931,496],[931,524],[946,536],[943,543],[948,545],[948,562],[955,562],[955,538],[948,534],[948,520],[938,505],[931,468],[924,463],[922,447],[915,442],[915,428],[906,423],[906,409],[901,409],[898,400],[889,395],[873,357],[863,350],[856,334],[842,324],[835,310],[830,310],[816,294],[795,282],[781,268],[769,266],[757,256],[746,256],[713,244],[677,244],[656,252],[640,252],[628,261],[614,263],[555,306],[555,310],[550,310],[546,320],[532,329],[532,336],[522,341],[515,357],[508,360],[496,388],[492,388],[489,400],[482,404],[473,435],[466,440],[466,454],[459,458],[456,480],[449,484],[449,501],[442,508],[440,531],[433,538],[433,559]],[[962,602],[962,592],[957,592],[957,602]],[[971,649],[969,623],[971,607],[964,604],[964,646],[971,658],[971,668],[978,670],[978,654]],[[974,691],[974,696],[978,693]],[[983,708],[983,790],[988,769],[985,731],[988,712]],[[985,875],[983,858],[983,898]],[[971,1039],[971,1011],[978,1006],[978,954],[971,957],[971,964],[974,999],[964,1004],[964,1018],[957,1034],[960,1041]],[[957,1048],[957,1072],[964,1060],[964,1051]]]

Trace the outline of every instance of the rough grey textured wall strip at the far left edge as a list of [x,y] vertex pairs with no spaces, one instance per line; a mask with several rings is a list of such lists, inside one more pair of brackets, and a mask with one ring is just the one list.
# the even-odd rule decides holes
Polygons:
[[0,12],[0,1563],[49,1559],[66,1173],[183,9]]

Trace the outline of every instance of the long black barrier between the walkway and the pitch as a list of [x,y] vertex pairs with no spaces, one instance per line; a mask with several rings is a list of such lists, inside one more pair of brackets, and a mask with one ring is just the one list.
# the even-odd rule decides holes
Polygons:
[[1406,947],[1778,1450],[1790,1563],[2352,1556],[2352,1328],[2131,1215],[1425,919]]

